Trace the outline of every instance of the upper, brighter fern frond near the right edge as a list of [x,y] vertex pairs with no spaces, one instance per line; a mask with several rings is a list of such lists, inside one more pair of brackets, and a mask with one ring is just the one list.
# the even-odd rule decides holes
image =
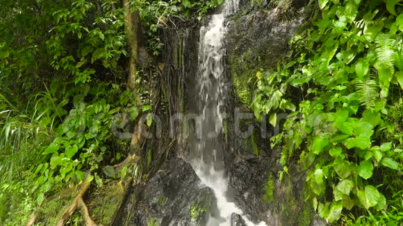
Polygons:
[[377,43],[377,60],[381,67],[388,69],[393,73],[395,71],[395,49],[393,48],[393,39],[390,39],[390,35],[381,34],[377,36],[375,40]]

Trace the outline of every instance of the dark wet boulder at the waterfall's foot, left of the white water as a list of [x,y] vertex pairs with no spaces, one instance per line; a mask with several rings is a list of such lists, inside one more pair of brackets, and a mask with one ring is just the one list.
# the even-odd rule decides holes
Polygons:
[[[214,205],[210,188],[201,187],[190,164],[172,158],[149,180],[136,203],[126,203],[122,225],[205,225]],[[125,216],[126,215],[126,216]]]

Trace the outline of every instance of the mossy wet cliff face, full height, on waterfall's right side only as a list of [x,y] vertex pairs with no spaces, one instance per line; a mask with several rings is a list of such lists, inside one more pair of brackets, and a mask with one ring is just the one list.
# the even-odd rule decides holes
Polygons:
[[[233,84],[231,112],[252,112],[256,73],[275,69],[286,57],[290,38],[304,21],[304,1],[263,2],[261,7],[245,3],[227,20],[227,71]],[[287,12],[287,13],[286,13]],[[236,120],[228,121],[229,130]],[[276,132],[268,119],[240,121],[242,131],[254,128],[249,137],[230,136],[234,160],[229,168],[230,186],[235,202],[252,218],[268,225],[311,225],[311,202],[304,202],[304,172],[295,162],[279,180],[281,150],[270,148],[270,137]],[[236,134],[236,131],[229,131]]]

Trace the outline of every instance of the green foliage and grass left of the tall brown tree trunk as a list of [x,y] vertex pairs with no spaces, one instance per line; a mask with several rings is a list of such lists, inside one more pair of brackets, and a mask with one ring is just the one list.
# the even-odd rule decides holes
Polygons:
[[0,4],[0,223],[23,225],[85,171],[102,184],[126,154],[111,125],[141,106],[124,90],[120,1]]

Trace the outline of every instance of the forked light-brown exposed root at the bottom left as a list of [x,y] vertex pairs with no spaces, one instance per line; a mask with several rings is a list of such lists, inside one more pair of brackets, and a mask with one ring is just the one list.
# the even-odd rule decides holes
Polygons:
[[94,221],[90,217],[90,213],[88,212],[87,205],[85,205],[85,202],[83,200],[83,195],[90,189],[90,182],[88,182],[88,175],[89,173],[85,176],[83,180],[83,184],[81,186],[81,190],[77,194],[77,197],[74,199],[71,205],[67,207],[63,215],[61,216],[60,220],[58,221],[57,225],[58,226],[63,226],[65,224],[65,221],[74,214],[74,211],[76,211],[77,208],[81,209],[81,214],[83,215],[83,219],[85,222],[85,225],[87,226],[96,226],[97,224],[94,223]]

